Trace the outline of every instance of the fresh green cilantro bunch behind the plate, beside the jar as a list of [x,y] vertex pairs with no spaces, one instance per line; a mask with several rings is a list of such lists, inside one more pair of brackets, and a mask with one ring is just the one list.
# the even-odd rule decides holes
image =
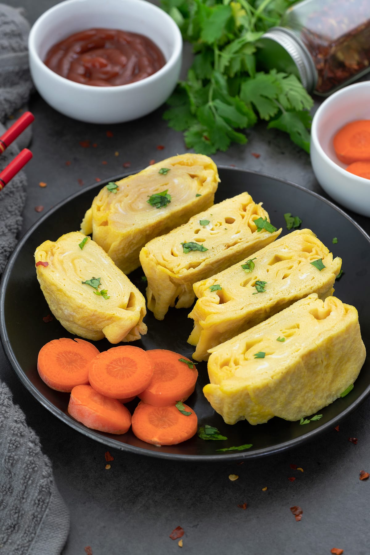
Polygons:
[[163,115],[188,148],[214,154],[245,144],[242,131],[260,118],[309,152],[312,98],[295,75],[256,71],[259,38],[294,1],[162,0],[195,53]]

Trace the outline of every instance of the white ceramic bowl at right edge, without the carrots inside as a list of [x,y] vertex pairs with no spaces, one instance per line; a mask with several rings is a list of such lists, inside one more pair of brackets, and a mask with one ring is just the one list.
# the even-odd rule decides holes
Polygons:
[[356,119],[370,119],[370,81],[349,85],[327,98],[313,116],[311,164],[317,181],[338,203],[370,216],[370,179],[353,175],[339,162],[333,138]]

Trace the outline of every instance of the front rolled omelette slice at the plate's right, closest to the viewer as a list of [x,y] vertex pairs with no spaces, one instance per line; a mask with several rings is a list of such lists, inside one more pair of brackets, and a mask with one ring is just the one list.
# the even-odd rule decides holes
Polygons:
[[310,416],[353,384],[366,357],[357,310],[315,293],[210,352],[203,392],[227,424]]

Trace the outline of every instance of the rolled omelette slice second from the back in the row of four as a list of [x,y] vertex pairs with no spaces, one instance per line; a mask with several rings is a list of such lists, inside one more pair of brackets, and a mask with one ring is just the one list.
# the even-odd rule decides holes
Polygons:
[[[257,231],[255,220],[268,217],[248,193],[241,193],[206,211],[166,235],[152,239],[140,251],[148,287],[148,309],[163,320],[170,306],[189,308],[195,299],[192,285],[228,268],[281,233]],[[182,243],[195,243],[203,251],[189,251]]]

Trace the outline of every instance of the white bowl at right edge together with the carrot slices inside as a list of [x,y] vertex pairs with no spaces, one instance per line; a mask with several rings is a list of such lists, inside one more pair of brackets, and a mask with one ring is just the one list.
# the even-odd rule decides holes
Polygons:
[[334,200],[370,216],[370,81],[339,90],[315,113],[311,163]]

